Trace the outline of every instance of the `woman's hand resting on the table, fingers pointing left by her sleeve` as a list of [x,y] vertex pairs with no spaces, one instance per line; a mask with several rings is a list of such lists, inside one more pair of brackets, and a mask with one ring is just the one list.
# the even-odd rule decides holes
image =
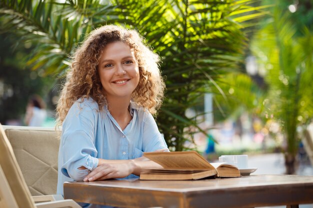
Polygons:
[[132,161],[125,163],[105,163],[96,167],[91,171],[83,181],[101,181],[105,179],[124,178],[129,176],[134,170],[134,163]]

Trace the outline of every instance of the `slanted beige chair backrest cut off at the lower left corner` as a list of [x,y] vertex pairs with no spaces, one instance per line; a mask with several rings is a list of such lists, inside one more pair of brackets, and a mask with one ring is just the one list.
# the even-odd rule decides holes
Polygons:
[[[14,156],[13,149],[4,133],[1,124],[0,167],[2,175],[0,177],[0,181],[1,185],[3,185],[0,186],[1,208],[11,208],[10,205],[17,205],[18,208],[35,208],[30,192]],[[4,196],[5,194],[6,196]]]

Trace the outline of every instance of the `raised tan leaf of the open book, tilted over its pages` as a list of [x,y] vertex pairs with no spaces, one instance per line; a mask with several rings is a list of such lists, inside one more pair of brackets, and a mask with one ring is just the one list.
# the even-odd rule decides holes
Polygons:
[[165,169],[214,169],[195,151],[186,152],[150,152],[143,156],[158,163]]

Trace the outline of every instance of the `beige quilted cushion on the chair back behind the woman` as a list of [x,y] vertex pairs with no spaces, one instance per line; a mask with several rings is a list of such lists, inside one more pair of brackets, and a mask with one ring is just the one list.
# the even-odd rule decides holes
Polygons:
[[59,132],[6,127],[5,134],[31,195],[56,194]]

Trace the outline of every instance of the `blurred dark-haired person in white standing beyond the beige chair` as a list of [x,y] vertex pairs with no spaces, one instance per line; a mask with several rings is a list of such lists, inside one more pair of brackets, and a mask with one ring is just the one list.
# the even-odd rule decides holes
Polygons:
[[24,123],[27,126],[42,126],[46,119],[45,103],[39,95],[32,95],[26,106]]

